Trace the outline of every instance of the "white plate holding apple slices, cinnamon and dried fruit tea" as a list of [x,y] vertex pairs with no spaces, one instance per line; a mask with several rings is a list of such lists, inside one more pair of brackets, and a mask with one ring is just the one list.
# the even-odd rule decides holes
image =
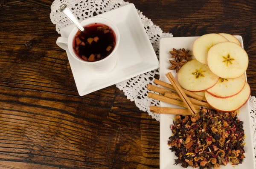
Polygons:
[[[243,47],[243,39],[241,36],[235,36]],[[166,73],[172,72],[174,77],[177,79],[177,73],[175,70],[169,70],[170,67],[169,60],[171,55],[169,51],[172,48],[175,49],[182,49],[185,48],[186,50],[192,51],[193,42],[198,37],[171,37],[171,38],[162,38],[160,40],[160,80],[170,83],[166,77]],[[179,106],[171,105],[168,103],[160,102],[161,107],[175,107],[181,108]],[[183,169],[183,167],[178,164],[177,166],[174,165],[175,163],[175,153],[169,150],[169,146],[167,145],[167,141],[169,137],[172,135],[172,131],[170,129],[171,124],[173,124],[173,117],[175,115],[165,115],[160,114],[160,169]],[[251,124],[250,124],[250,107],[249,103],[247,102],[241,109],[238,115],[239,119],[244,121],[244,133],[246,138],[244,142],[246,142],[244,146],[245,150],[245,157],[242,164],[235,166],[235,169],[255,169],[254,164],[254,153],[253,153],[253,137],[251,131]],[[192,167],[188,167],[188,169],[192,169]],[[221,169],[234,169],[234,167],[229,163],[227,166],[221,166]]]

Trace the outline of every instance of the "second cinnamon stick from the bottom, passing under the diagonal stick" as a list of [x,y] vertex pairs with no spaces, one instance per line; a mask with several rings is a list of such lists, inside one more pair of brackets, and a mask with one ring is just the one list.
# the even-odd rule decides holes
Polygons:
[[[175,99],[170,99],[168,97],[165,97],[163,95],[158,95],[156,93],[151,93],[151,92],[148,92],[148,97],[149,98],[152,98],[152,99],[156,99],[156,100],[160,100],[160,101],[163,101],[165,103],[170,103],[170,104],[174,104],[176,106],[180,106],[180,107],[184,107],[184,108],[187,108],[186,107],[186,104],[183,102],[183,101],[178,101],[178,100],[175,100]],[[193,105],[195,107],[195,109],[197,110],[200,110],[201,106],[198,106],[198,105]]]

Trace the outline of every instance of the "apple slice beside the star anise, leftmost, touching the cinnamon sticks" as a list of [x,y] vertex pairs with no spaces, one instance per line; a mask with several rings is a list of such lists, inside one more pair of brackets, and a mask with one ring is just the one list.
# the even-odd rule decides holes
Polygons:
[[180,86],[191,92],[205,91],[214,86],[219,77],[207,65],[193,59],[185,63],[177,74]]

